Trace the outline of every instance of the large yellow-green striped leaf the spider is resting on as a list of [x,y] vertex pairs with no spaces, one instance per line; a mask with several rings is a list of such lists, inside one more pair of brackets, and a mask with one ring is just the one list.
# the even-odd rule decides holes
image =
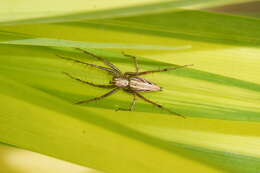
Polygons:
[[[257,172],[259,27],[256,19],[194,10],[2,26],[0,141],[104,172]],[[121,51],[136,55],[142,70],[194,64],[144,76],[164,88],[144,95],[186,119],[141,100],[134,112],[115,112],[131,102],[124,92],[73,104],[107,90],[62,72],[101,84],[111,76],[55,56],[102,64],[68,46],[123,71],[134,67]]]

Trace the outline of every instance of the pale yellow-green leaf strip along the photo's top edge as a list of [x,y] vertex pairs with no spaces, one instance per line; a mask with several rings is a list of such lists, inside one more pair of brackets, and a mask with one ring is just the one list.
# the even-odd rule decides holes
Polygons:
[[[0,25],[32,23],[68,22],[82,19],[103,19],[120,16],[141,15],[176,10],[176,8],[205,8],[251,0],[139,0],[104,3],[102,0],[88,2],[84,0],[62,1],[45,0],[44,2],[24,0],[23,2],[4,3],[0,16]],[[61,5],[62,4],[62,5]],[[13,6],[15,5],[15,7]],[[42,7],[43,10],[37,8]],[[35,7],[35,8],[28,8]],[[11,12],[10,12],[10,9]],[[48,9],[48,10],[44,10]]]

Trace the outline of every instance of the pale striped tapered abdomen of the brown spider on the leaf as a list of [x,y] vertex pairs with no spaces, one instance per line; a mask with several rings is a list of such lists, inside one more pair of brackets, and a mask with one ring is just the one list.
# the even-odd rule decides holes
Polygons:
[[160,86],[141,77],[131,77],[129,79],[129,87],[132,91],[136,92],[152,92],[162,90]]

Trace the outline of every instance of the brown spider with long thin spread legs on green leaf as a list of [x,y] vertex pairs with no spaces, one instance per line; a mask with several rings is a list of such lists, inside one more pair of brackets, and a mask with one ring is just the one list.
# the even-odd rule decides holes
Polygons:
[[123,91],[130,93],[133,95],[133,100],[131,105],[129,106],[129,108],[118,108],[116,109],[116,111],[133,111],[134,107],[135,107],[135,103],[136,103],[136,97],[157,106],[158,108],[164,109],[172,114],[175,114],[177,116],[181,116],[184,118],[183,115],[177,113],[177,112],[173,112],[167,108],[165,108],[164,106],[151,101],[149,99],[147,99],[146,97],[144,97],[142,94],[140,94],[141,92],[155,92],[155,91],[162,91],[162,88],[160,86],[158,86],[157,84],[150,82],[140,76],[142,75],[146,75],[146,74],[151,74],[151,73],[157,73],[157,72],[165,72],[165,71],[170,71],[170,70],[176,70],[179,68],[184,68],[187,66],[191,66],[192,64],[189,65],[183,65],[183,66],[179,66],[179,67],[170,67],[170,68],[164,68],[164,69],[159,69],[159,70],[150,70],[150,71],[139,71],[139,67],[138,67],[138,63],[136,60],[136,57],[133,55],[128,55],[122,52],[122,54],[126,57],[130,57],[133,59],[134,65],[135,65],[135,72],[121,72],[121,70],[119,70],[114,64],[112,64],[111,62],[109,62],[107,59],[102,58],[100,56],[97,56],[91,52],[88,52],[86,50],[80,49],[80,48],[76,48],[77,50],[82,51],[83,53],[90,55],[100,61],[102,61],[105,65],[107,65],[108,67],[103,67],[103,66],[99,66],[96,64],[90,64],[90,63],[86,63],[86,62],[82,62],[76,59],[72,59],[69,57],[64,57],[64,56],[60,56],[57,55],[58,57],[65,59],[65,60],[69,60],[69,61],[73,61],[76,63],[80,63],[83,65],[87,65],[87,66],[91,66],[91,67],[95,67],[98,68],[100,70],[104,70],[107,71],[108,73],[110,73],[113,77],[112,80],[109,82],[108,85],[99,85],[99,84],[94,84],[88,81],[84,81],[81,80],[79,78],[76,78],[72,75],[70,75],[69,73],[63,72],[65,75],[67,75],[69,78],[79,81],[81,83],[87,84],[87,85],[91,85],[94,87],[99,87],[99,88],[106,88],[106,89],[112,89],[109,92],[107,92],[106,94],[99,96],[99,97],[95,97],[95,98],[91,98],[88,100],[82,100],[77,102],[76,104],[83,104],[83,103],[88,103],[88,102],[92,102],[92,101],[97,101],[97,100],[101,100],[104,99],[114,93],[116,93],[118,90],[122,89]]

